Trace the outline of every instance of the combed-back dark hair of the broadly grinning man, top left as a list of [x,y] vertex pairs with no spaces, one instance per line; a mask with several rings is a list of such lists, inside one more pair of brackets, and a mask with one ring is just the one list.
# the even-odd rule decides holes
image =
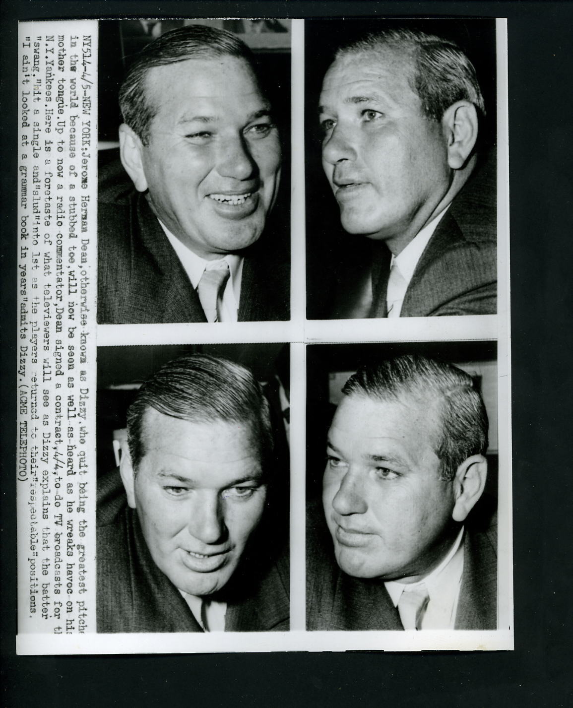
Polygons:
[[159,110],[145,96],[145,77],[149,69],[186,59],[244,59],[256,73],[253,52],[235,35],[204,25],[187,25],[161,37],[135,55],[120,88],[120,110],[123,122],[137,133],[142,143],[149,141],[149,123]]

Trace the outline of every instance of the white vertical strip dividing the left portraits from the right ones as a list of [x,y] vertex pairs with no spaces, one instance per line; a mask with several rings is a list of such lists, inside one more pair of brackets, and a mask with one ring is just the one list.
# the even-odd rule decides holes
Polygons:
[[292,25],[291,332],[290,346],[290,629],[305,629],[305,21]]

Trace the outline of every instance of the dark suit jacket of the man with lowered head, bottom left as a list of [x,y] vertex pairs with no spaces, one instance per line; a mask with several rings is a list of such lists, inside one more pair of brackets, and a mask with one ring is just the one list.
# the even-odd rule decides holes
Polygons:
[[[97,522],[98,632],[203,632],[149,554],[117,470],[98,480]],[[226,632],[288,631],[287,558],[251,550],[221,591]]]

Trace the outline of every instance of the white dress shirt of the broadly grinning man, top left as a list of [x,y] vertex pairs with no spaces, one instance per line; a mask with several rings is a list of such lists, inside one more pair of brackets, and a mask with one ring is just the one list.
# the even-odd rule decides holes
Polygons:
[[[195,290],[199,285],[201,275],[205,270],[208,263],[213,263],[214,261],[206,261],[205,258],[200,258],[196,253],[193,253],[191,249],[181,243],[176,236],[171,234],[169,229],[157,219],[161,228],[164,230],[165,235],[169,239],[169,243],[173,246],[179,261],[187,277],[191,281],[191,285]],[[229,265],[230,277],[227,280],[227,285],[225,286],[225,291],[223,292],[222,305],[219,312],[220,322],[237,322],[239,314],[239,301],[241,299],[241,277],[243,274],[243,257],[237,256],[235,253],[227,253],[224,258],[219,258],[219,261],[226,261]],[[216,261],[215,261],[216,262]]]

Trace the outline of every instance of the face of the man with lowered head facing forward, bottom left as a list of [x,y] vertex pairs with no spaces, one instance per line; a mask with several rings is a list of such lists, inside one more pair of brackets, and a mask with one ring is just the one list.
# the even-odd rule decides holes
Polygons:
[[266,498],[259,448],[244,423],[190,423],[148,410],[130,506],[171,583],[220,590],[237,569]]

